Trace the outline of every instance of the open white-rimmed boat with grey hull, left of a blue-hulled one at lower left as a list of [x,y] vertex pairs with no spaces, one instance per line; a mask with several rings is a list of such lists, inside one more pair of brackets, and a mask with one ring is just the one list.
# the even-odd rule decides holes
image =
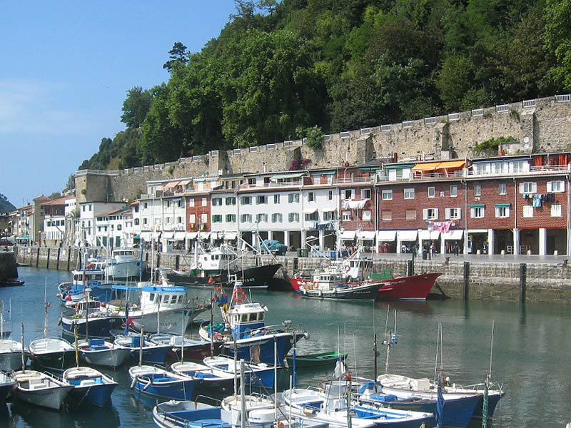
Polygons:
[[52,374],[36,370],[21,370],[12,374],[16,382],[13,389],[16,398],[35,406],[59,410],[64,399],[74,389]]

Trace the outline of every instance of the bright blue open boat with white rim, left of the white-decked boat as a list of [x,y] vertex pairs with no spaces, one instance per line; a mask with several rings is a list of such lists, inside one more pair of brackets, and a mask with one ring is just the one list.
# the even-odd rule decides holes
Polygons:
[[161,399],[193,399],[194,387],[200,382],[189,376],[167,372],[148,365],[129,369],[133,392]]

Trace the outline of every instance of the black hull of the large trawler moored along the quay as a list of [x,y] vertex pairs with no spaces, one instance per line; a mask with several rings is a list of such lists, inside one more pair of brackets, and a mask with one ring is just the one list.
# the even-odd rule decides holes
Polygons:
[[[241,278],[244,288],[267,288],[273,275],[276,275],[281,264],[263,265],[248,267],[244,270],[236,270],[230,275]],[[194,287],[233,287],[234,282],[228,278],[228,272],[221,270],[204,271],[204,276],[180,274],[176,272],[168,273],[168,280],[177,284]]]

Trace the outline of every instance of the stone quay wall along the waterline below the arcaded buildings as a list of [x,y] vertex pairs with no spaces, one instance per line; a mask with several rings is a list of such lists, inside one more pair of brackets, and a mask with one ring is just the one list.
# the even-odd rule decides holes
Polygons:
[[[33,267],[58,270],[73,270],[84,257],[83,249],[57,247],[20,247],[17,249],[18,263]],[[89,248],[90,255],[104,254],[103,248]],[[184,269],[191,261],[191,255],[180,253],[145,252],[144,260],[149,266]],[[270,263],[270,255],[263,256]],[[291,275],[297,269],[315,269],[322,265],[321,258],[293,258],[278,256],[282,263],[281,277]],[[253,263],[253,257],[246,263]],[[373,261],[373,271],[388,268],[393,275],[406,275],[410,260]],[[15,267],[15,265],[14,265]],[[415,273],[442,272],[437,285],[448,297],[466,300],[500,300],[507,302],[571,303],[571,267],[566,263],[487,263],[463,260],[415,260]],[[17,276],[17,273],[16,273]],[[440,292],[438,287],[434,293]]]

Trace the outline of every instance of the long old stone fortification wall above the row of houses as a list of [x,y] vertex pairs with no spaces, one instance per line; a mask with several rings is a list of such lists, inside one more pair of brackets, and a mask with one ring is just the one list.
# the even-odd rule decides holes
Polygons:
[[79,202],[136,198],[148,180],[283,171],[294,157],[310,159],[310,168],[359,165],[393,153],[399,159],[464,158],[474,155],[477,143],[508,136],[517,142],[502,147],[506,154],[564,151],[571,146],[570,101],[554,96],[345,131],[325,136],[316,150],[301,140],[284,141],[126,170],[78,171],[76,194]]

